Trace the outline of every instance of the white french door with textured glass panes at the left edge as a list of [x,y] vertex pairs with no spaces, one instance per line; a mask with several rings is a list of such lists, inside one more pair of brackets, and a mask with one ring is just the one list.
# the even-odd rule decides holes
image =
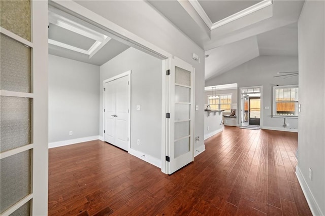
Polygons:
[[0,8],[0,215],[47,215],[48,3]]

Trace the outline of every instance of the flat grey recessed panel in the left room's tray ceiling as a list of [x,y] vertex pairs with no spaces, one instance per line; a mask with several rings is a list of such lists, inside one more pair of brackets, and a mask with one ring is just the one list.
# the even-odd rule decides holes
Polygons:
[[88,50],[96,42],[95,40],[52,23],[50,23],[49,27],[49,39],[83,50]]

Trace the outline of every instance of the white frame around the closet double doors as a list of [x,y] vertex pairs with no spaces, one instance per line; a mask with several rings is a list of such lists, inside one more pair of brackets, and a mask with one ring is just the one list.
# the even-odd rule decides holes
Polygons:
[[127,151],[131,148],[131,70],[128,70],[122,74],[116,75],[114,77],[111,77],[109,79],[106,79],[103,81],[103,139],[105,140],[105,83],[117,80],[122,77],[128,77],[127,81],[129,83],[127,89],[128,89],[128,101],[127,101],[127,109],[128,109],[128,122],[127,122]]

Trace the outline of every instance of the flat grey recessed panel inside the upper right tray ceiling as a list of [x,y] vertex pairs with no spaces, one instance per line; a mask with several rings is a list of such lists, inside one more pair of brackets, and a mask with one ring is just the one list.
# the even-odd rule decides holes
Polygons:
[[212,23],[218,22],[226,17],[236,14],[250,6],[253,6],[260,0],[255,1],[204,1],[199,0],[205,13],[208,15]]

